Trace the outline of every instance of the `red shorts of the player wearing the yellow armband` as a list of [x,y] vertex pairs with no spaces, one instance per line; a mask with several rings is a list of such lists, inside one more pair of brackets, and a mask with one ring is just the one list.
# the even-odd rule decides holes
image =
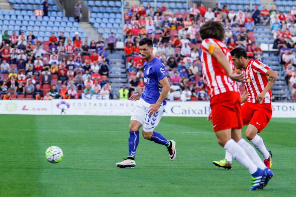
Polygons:
[[210,100],[214,131],[242,128],[241,100],[239,92],[225,92]]

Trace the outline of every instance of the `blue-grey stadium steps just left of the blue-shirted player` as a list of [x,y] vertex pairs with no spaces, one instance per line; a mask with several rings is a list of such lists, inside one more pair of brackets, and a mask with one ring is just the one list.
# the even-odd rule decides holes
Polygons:
[[123,51],[115,51],[112,54],[109,52],[108,55],[110,61],[108,81],[111,84],[114,99],[119,98],[118,90],[120,90],[123,85],[126,85],[126,87],[128,87],[128,73],[123,55]]

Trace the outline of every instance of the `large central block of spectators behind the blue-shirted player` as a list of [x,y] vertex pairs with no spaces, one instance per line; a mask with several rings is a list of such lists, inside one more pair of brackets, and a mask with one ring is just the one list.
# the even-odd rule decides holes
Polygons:
[[[255,45],[255,25],[269,21],[269,11],[253,10],[246,6],[237,13],[223,9],[218,4],[206,8],[203,4],[194,4],[189,13],[173,13],[162,4],[156,9],[150,4],[125,6],[124,34],[126,36],[124,52],[128,65],[129,95],[134,90],[143,90],[143,60],[139,51],[139,40],[152,39],[154,55],[163,61],[171,85],[169,100],[207,100],[207,92],[202,80],[200,26],[208,21],[221,21],[225,25],[224,43],[233,49],[242,47],[251,59],[262,59],[262,50]],[[268,12],[268,13],[267,13]]]

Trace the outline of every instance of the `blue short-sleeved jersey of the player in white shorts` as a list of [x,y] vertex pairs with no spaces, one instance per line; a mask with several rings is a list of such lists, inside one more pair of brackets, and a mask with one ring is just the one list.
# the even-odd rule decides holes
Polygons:
[[[160,92],[163,89],[163,86],[159,81],[166,77],[166,70],[163,63],[158,58],[153,58],[151,62],[147,64],[147,61],[144,62],[144,84],[145,89],[141,98],[150,103],[156,103]],[[166,105],[164,100],[162,105]]]

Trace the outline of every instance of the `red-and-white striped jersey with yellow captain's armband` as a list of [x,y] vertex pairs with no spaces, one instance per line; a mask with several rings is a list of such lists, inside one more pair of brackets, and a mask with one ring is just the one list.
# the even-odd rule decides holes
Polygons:
[[216,39],[205,39],[202,41],[202,73],[207,91],[210,97],[227,92],[239,92],[236,82],[232,81],[217,59],[212,56],[215,48],[221,48],[229,61],[229,67],[234,69],[232,57],[227,46]]

